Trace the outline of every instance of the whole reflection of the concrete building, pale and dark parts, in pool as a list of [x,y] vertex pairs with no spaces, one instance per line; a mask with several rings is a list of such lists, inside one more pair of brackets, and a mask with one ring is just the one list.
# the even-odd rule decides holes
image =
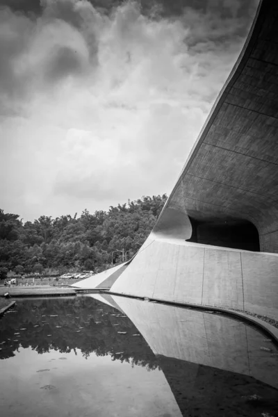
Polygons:
[[[178,306],[103,295],[136,325],[183,416],[253,416],[278,411],[277,348],[239,320]],[[116,304],[115,304],[116,303]],[[250,395],[261,400],[250,400]],[[248,408],[247,407],[247,408]],[[250,413],[250,408],[247,413]],[[240,413],[241,415],[241,413]]]

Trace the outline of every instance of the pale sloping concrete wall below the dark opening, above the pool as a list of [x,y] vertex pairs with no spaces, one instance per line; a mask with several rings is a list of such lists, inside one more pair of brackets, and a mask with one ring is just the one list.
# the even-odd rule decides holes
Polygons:
[[111,291],[246,310],[278,320],[277,275],[277,254],[163,240],[152,234]]

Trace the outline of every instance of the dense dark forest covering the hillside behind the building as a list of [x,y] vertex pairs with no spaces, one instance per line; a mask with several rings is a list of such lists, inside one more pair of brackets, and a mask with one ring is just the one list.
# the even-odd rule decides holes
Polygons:
[[127,261],[156,223],[167,195],[144,196],[108,211],[84,210],[80,217],[41,215],[33,222],[0,209],[0,278],[15,274],[101,272]]

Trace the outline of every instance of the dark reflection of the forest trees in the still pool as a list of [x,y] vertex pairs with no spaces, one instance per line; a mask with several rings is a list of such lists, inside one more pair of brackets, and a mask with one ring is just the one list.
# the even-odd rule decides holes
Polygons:
[[149,370],[159,368],[145,339],[133,336],[138,330],[131,320],[88,297],[17,300],[15,312],[0,320],[0,334],[1,342],[6,342],[1,344],[0,359],[15,356],[19,347],[31,347],[38,354],[50,350],[77,354],[78,349],[85,359],[94,352]]

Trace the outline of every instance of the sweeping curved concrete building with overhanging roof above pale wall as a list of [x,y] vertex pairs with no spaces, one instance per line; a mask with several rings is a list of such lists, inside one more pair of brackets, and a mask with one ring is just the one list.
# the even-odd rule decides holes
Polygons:
[[278,3],[236,65],[145,244],[111,287],[278,318]]

